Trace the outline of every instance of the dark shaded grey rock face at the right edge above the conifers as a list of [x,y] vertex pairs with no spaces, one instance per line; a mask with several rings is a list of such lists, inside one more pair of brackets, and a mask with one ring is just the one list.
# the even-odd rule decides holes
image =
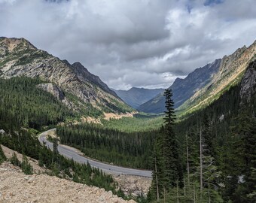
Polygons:
[[241,103],[250,102],[251,97],[256,94],[256,60],[251,62],[242,78],[240,98]]

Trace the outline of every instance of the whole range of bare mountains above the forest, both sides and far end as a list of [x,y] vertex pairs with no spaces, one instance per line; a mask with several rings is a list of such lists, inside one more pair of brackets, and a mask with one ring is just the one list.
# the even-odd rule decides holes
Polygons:
[[[256,41],[230,56],[197,68],[184,79],[177,78],[169,88],[178,115],[197,111],[211,104],[230,86],[239,83],[245,68],[256,59]],[[80,62],[70,64],[44,50],[38,50],[24,38],[0,38],[0,77],[39,77],[38,85],[75,111],[126,113],[133,108],[146,113],[165,111],[163,90],[133,87],[112,90]],[[128,105],[127,105],[128,104]],[[131,108],[133,107],[133,108]]]

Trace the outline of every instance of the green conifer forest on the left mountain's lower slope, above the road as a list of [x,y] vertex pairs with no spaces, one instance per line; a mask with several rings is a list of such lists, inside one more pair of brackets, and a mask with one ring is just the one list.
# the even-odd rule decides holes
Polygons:
[[13,77],[0,79],[0,126],[40,129],[59,123],[73,113],[48,92],[37,88],[39,79]]

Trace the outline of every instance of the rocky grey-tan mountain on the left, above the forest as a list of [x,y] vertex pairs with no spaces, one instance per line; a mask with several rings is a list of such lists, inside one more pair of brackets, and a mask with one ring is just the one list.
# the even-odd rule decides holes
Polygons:
[[[38,88],[58,97],[75,111],[125,113],[133,111],[117,94],[79,62],[69,64],[24,38],[0,38],[0,77],[40,78]],[[59,97],[59,95],[61,95]]]

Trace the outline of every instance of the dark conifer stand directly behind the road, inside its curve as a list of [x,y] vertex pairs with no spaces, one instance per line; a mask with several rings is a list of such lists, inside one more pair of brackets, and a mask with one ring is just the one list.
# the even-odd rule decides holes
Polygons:
[[149,168],[149,156],[156,135],[150,132],[120,132],[101,125],[57,126],[62,144],[78,148],[86,156],[131,168]]

